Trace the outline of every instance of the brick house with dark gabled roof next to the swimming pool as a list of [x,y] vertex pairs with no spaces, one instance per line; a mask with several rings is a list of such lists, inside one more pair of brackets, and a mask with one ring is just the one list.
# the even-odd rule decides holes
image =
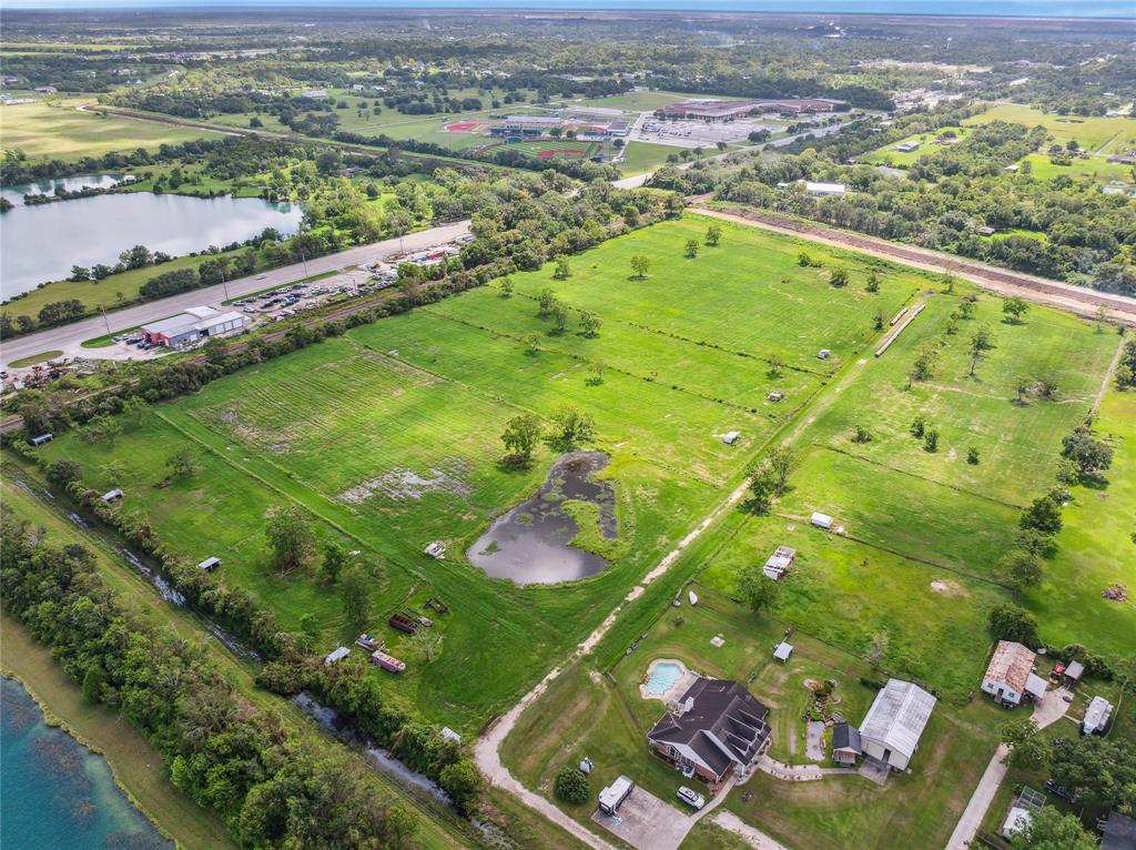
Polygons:
[[648,747],[684,776],[717,784],[765,750],[768,715],[737,682],[700,676],[648,732]]

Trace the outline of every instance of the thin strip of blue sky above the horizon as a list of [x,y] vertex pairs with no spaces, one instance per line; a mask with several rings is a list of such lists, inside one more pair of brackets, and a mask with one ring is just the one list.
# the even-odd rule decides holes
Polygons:
[[2,5],[7,9],[495,8],[1136,18],[1136,0],[2,0]]

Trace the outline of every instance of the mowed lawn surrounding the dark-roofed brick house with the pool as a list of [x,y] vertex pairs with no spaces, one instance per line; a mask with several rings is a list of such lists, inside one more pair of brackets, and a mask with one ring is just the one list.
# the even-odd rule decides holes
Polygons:
[[[755,617],[703,585],[695,590],[698,607],[663,610],[648,636],[610,670],[588,669],[594,658],[569,668],[521,716],[502,747],[515,776],[580,823],[588,823],[593,798],[582,806],[563,803],[552,794],[552,780],[561,766],[585,756],[595,765],[593,797],[621,773],[668,802],[679,785],[690,784],[644,745],[648,730],[663,713],[659,700],[642,699],[638,692],[652,660],[676,659],[704,675],[746,682],[770,709],[772,756],[793,764],[808,764],[801,719],[810,701],[807,680],[834,681],[833,710],[852,723],[862,720],[875,697],[860,682],[875,674],[855,656],[797,631],[793,657],[782,665],[772,660],[771,647],[795,620],[779,614]],[[715,636],[724,640],[721,647],[710,643]],[[887,847],[892,830],[902,827],[911,848],[939,850],[994,751],[1002,719],[980,700],[964,708],[939,701],[911,775],[892,776],[879,788],[859,776],[784,782],[757,772],[744,786],[752,799],[743,800],[738,789],[725,805],[790,848]]]

